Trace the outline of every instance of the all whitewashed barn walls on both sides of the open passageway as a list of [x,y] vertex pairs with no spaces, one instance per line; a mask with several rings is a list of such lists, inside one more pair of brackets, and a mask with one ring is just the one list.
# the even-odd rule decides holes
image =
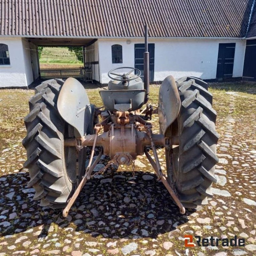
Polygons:
[[[108,71],[117,67],[134,67],[134,44],[144,43],[143,39],[98,39],[94,46],[94,61],[100,58],[99,65],[93,66],[93,79],[107,84]],[[38,77],[36,54],[29,48],[36,46],[20,37],[0,37],[0,43],[7,44],[10,65],[0,65],[0,87],[27,86]],[[233,77],[243,74],[245,40],[239,39],[149,39],[155,44],[154,81],[162,81],[166,76],[197,76],[215,79],[219,43],[236,43]],[[123,63],[112,63],[111,45],[123,46]],[[27,48],[27,49],[26,49]],[[37,68],[36,68],[37,67]],[[95,70],[95,72],[94,72]]]

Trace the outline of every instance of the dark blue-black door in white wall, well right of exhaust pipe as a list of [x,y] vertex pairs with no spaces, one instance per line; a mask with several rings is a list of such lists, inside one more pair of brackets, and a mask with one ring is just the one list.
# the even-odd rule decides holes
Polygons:
[[236,43],[219,44],[216,78],[222,81],[233,76]]

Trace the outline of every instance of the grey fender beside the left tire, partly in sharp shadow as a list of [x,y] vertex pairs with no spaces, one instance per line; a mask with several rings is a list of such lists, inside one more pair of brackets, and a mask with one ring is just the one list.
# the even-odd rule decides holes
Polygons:
[[91,105],[84,86],[69,77],[62,85],[57,100],[60,116],[75,128],[75,136],[82,137],[91,122]]

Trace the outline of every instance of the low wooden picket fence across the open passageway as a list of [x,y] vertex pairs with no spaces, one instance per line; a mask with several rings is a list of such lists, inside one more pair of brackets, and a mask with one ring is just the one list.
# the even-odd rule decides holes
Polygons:
[[41,78],[84,78],[83,67],[75,68],[40,68]]

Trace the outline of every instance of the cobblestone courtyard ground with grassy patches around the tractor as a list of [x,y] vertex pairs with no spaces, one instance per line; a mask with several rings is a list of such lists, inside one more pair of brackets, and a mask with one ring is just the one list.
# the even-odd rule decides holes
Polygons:
[[[151,87],[157,102],[158,88]],[[22,169],[23,117],[33,91],[0,91],[0,256],[9,255],[255,255],[256,85],[213,84],[221,137],[214,197],[197,212],[179,213],[145,157],[108,169],[84,187],[66,219],[40,207]],[[99,93],[89,91],[100,105]],[[154,116],[157,131],[157,116]],[[90,149],[88,148],[88,151]],[[89,152],[88,152],[89,153]],[[159,149],[164,169],[164,153]],[[97,168],[108,162],[102,157]],[[184,246],[184,235],[245,239],[245,246]],[[216,244],[215,244],[216,245]],[[232,251],[233,249],[233,251]],[[222,251],[223,250],[223,251]],[[226,251],[225,251],[226,250]]]

